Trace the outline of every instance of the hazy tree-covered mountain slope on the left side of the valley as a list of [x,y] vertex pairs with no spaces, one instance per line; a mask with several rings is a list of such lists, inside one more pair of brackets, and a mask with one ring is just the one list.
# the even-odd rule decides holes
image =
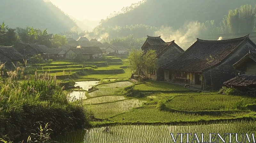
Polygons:
[[44,0],[2,0],[0,21],[11,28],[34,26],[50,33],[69,31],[76,23],[63,11]]

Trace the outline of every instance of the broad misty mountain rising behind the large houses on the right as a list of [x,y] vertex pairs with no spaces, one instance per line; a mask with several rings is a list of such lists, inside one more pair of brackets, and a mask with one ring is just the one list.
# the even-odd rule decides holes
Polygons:
[[[108,19],[102,27],[146,24],[172,26],[178,29],[185,22],[215,20],[219,24],[228,10],[241,5],[255,6],[255,0],[147,0],[137,8]],[[128,7],[129,9],[129,7]]]

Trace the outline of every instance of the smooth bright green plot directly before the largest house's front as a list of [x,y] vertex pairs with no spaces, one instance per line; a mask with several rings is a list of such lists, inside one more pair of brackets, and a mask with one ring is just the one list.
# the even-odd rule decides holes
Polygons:
[[189,90],[189,89],[182,87],[180,85],[172,84],[172,83],[150,81],[150,82],[144,82],[142,84],[135,85],[134,90],[175,91],[175,90]]

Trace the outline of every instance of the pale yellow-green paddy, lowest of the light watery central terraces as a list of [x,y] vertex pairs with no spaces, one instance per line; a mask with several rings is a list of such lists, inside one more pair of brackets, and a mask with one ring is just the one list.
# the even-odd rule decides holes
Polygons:
[[85,107],[92,111],[96,118],[104,119],[130,111],[132,108],[140,107],[142,104],[143,101],[133,98],[111,103],[85,105]]

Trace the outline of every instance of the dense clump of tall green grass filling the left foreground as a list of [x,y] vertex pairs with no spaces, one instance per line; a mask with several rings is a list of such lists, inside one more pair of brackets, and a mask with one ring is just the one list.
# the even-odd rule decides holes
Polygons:
[[[8,134],[12,140],[28,139],[35,122],[49,123],[51,136],[90,126],[88,112],[68,101],[56,78],[35,74],[34,79],[13,79],[0,82],[0,138]],[[20,138],[15,138],[16,129]]]

